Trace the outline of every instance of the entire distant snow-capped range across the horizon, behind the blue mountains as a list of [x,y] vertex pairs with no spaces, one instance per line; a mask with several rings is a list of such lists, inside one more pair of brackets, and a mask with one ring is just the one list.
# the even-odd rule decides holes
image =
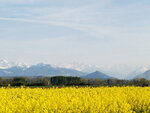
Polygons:
[[[14,63],[14,62],[9,62],[7,60],[0,60],[0,69],[10,69],[13,67],[18,67],[18,68],[21,68],[22,70],[23,69],[27,70],[29,68],[33,69],[33,67],[39,67],[39,66],[41,66],[41,67],[51,66],[51,69],[53,69],[55,71],[56,71],[56,69],[58,69],[58,70],[60,69],[61,70],[61,71],[59,70],[60,74],[62,74],[63,71],[67,72],[67,73],[68,73],[68,71],[71,72],[70,70],[73,70],[73,71],[76,70],[77,71],[76,74],[78,74],[78,72],[81,72],[81,73],[79,73],[80,75],[82,75],[82,72],[83,73],[92,73],[95,71],[100,71],[102,73],[105,73],[107,75],[110,75],[115,78],[120,78],[120,79],[132,79],[136,75],[142,74],[145,71],[150,69],[150,66],[133,67],[133,66],[127,66],[127,65],[115,65],[115,66],[109,65],[109,66],[102,67],[99,65],[91,65],[91,64],[84,64],[84,63],[69,63],[69,64],[64,63],[64,64],[52,64],[52,65],[47,65],[47,64],[41,63],[41,64],[30,66],[30,65],[26,65],[24,63]],[[10,73],[8,70],[5,70],[5,71]],[[74,72],[73,73],[71,72],[70,74],[74,74]]]

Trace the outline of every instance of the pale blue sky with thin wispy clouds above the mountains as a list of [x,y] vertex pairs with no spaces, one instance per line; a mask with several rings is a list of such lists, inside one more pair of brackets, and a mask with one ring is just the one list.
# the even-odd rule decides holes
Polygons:
[[0,0],[0,57],[150,64],[149,0]]

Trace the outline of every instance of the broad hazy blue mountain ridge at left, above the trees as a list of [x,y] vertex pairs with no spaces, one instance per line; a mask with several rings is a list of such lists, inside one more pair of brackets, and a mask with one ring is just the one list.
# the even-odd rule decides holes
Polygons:
[[54,68],[49,64],[37,64],[30,67],[11,67],[7,69],[0,69],[0,76],[83,76],[87,73],[77,71],[74,69]]

